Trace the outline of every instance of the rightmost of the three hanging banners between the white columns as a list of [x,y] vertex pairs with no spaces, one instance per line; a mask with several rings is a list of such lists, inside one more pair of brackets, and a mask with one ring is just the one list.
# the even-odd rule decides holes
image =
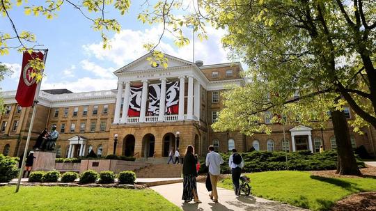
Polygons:
[[166,83],[165,114],[179,114],[179,81]]

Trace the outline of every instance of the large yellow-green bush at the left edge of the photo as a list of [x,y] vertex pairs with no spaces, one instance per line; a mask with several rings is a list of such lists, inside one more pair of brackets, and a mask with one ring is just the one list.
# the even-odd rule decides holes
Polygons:
[[0,154],[0,182],[10,182],[18,175],[18,157],[9,157]]

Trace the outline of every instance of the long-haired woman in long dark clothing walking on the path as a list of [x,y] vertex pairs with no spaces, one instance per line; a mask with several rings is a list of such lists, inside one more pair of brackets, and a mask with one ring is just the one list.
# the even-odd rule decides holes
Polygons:
[[182,169],[182,174],[183,174],[182,200],[184,200],[185,203],[189,203],[189,201],[192,201],[192,198],[194,199],[194,202],[201,203],[201,201],[198,200],[198,194],[197,194],[196,164],[197,164],[197,159],[194,157],[194,148],[193,146],[188,145],[187,149],[185,150],[183,169]]

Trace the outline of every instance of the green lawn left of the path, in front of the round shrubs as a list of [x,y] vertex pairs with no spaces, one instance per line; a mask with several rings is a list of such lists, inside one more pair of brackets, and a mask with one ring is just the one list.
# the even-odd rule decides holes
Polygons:
[[151,189],[0,187],[0,210],[180,210]]

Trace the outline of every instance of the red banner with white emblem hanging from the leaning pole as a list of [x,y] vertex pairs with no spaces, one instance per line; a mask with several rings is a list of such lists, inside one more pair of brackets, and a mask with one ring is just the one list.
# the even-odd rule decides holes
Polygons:
[[42,52],[33,52],[31,54],[29,54],[29,52],[24,52],[21,75],[19,77],[17,94],[15,97],[21,107],[31,107],[34,101],[34,95],[36,95],[36,79],[31,77],[31,73],[35,72],[35,70],[31,68],[29,61],[36,58],[40,58],[40,60],[43,61],[43,56]]

